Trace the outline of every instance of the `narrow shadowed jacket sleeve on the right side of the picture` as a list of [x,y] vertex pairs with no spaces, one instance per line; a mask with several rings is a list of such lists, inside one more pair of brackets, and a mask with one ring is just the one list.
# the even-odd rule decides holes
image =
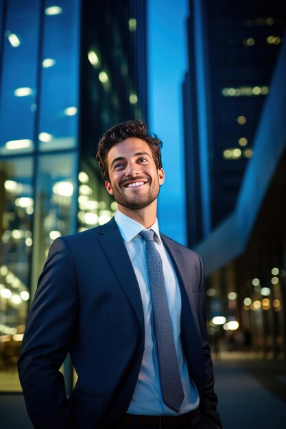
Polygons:
[[200,409],[206,417],[211,418],[217,428],[222,427],[222,422],[220,420],[219,414],[217,413],[217,395],[214,391],[214,376],[213,376],[213,362],[211,359],[211,347],[209,345],[208,331],[206,325],[206,288],[204,283],[204,271],[202,267],[202,260],[198,255],[200,261],[200,272],[201,272],[201,284],[200,284],[200,309],[198,312],[198,318],[200,323],[200,332],[202,336],[202,350],[204,358],[204,395],[202,404],[200,404]]

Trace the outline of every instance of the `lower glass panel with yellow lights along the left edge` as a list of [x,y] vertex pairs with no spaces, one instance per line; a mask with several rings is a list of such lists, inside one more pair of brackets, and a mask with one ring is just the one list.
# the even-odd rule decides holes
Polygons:
[[16,362],[29,303],[32,159],[0,160],[0,391],[21,391]]

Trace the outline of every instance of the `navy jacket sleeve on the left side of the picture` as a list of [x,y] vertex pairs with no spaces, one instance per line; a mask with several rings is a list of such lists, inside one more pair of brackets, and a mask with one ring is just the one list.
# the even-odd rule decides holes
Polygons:
[[60,367],[69,352],[77,317],[78,289],[71,250],[53,242],[29,310],[19,378],[34,428],[77,428]]

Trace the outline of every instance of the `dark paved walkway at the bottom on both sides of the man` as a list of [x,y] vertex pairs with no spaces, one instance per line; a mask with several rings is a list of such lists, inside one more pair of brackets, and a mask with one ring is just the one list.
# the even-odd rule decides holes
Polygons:
[[[245,356],[231,353],[214,358],[215,390],[223,428],[285,428],[285,361],[246,359]],[[0,428],[33,428],[23,395],[0,395]]]

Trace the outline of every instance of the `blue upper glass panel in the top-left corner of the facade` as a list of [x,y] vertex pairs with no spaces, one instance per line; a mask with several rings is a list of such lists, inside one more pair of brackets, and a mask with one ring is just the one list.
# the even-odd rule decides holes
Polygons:
[[[10,0],[4,22],[0,154],[32,151],[36,110],[39,0]],[[15,126],[16,123],[16,126]]]

